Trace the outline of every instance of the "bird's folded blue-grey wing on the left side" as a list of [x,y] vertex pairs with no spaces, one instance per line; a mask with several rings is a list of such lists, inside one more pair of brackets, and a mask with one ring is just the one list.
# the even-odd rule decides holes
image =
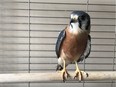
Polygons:
[[60,48],[61,48],[61,45],[62,45],[62,42],[63,42],[65,36],[66,36],[66,32],[65,32],[65,30],[62,30],[57,38],[55,51],[56,51],[56,55],[58,58],[60,56]]

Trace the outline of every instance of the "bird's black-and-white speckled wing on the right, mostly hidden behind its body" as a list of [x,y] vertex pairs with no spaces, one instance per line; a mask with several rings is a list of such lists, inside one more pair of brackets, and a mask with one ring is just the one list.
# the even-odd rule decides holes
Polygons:
[[85,49],[83,55],[81,55],[81,57],[79,58],[79,60],[77,62],[83,61],[84,58],[86,59],[89,56],[90,52],[91,52],[91,36],[88,35],[86,49]]

